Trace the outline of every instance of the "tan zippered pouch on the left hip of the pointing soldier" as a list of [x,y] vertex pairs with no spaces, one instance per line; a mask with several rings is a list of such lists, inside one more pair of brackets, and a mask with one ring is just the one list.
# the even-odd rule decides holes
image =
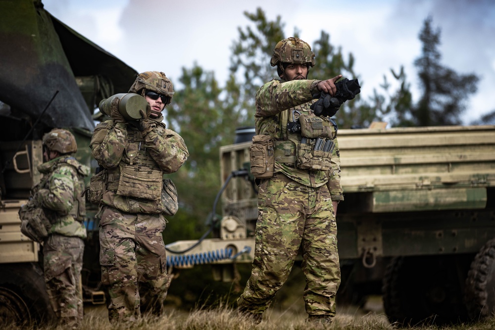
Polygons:
[[251,174],[256,179],[273,177],[275,167],[275,150],[272,137],[269,135],[255,135],[249,147]]

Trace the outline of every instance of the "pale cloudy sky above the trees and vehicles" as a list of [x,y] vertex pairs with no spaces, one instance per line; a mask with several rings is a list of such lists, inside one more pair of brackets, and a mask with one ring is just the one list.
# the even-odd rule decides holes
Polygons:
[[[176,83],[182,67],[196,62],[214,71],[221,86],[244,11],[261,7],[278,15],[286,36],[299,30],[313,44],[322,30],[332,45],[355,57],[361,94],[379,90],[390,69],[404,66],[413,97],[418,85],[413,61],[421,54],[418,33],[431,15],[441,28],[442,64],[480,77],[464,124],[495,109],[494,0],[43,0],[56,18],[139,72],[163,71]],[[316,54],[318,60],[318,54]],[[329,77],[331,78],[331,77]],[[348,77],[351,78],[351,77]]]

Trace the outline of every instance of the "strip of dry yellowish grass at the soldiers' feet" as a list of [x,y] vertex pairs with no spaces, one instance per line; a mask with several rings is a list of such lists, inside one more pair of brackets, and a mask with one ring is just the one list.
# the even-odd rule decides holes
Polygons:
[[[362,313],[357,308],[341,309],[333,324],[317,326],[305,322],[305,315],[290,312],[267,311],[263,321],[256,325],[252,320],[240,316],[228,307],[215,309],[198,308],[190,313],[168,310],[162,317],[143,317],[139,322],[110,325],[104,308],[89,310],[80,330],[394,330],[384,314],[370,312]],[[63,330],[52,327],[8,327],[12,330]],[[410,330],[492,330],[495,329],[495,319],[484,323],[456,325],[452,327],[421,326],[411,327]]]

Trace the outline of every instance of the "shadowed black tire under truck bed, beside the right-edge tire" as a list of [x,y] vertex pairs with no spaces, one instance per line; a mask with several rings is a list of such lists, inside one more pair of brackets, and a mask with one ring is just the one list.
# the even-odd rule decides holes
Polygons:
[[415,326],[465,321],[467,312],[457,276],[462,262],[455,255],[393,258],[383,282],[384,309],[390,323]]

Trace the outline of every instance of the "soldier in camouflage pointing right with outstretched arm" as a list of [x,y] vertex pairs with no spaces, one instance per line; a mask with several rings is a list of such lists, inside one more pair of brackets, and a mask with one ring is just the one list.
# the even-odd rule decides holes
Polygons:
[[[273,176],[259,184],[252,273],[237,300],[239,310],[255,322],[287,280],[299,250],[308,321],[330,323],[336,313],[340,266],[335,212],[343,200],[339,149],[335,123],[315,116],[310,105],[322,92],[334,95],[342,76],[306,80],[314,56],[298,38],[280,41],[270,64],[277,66],[281,79],[256,93],[254,138],[271,137],[275,153]],[[311,156],[320,147],[315,141],[323,146],[318,160]]]

